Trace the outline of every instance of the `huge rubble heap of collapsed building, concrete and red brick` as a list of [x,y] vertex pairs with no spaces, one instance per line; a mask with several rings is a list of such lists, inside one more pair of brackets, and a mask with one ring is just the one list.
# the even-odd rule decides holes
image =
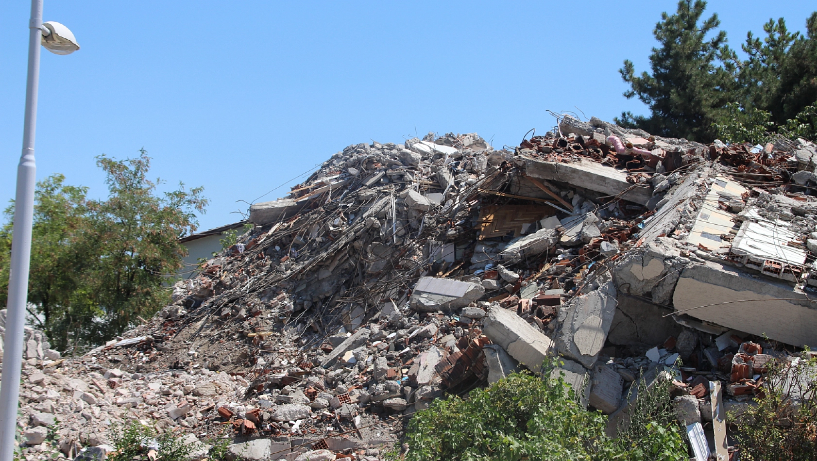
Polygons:
[[642,379],[667,376],[694,452],[727,457],[725,411],[817,345],[815,164],[806,140],[705,145],[596,118],[513,149],[352,145],[253,204],[252,231],[154,319],[68,361],[35,345],[24,409],[62,406],[65,455],[153,419],[230,428],[239,458],[377,459],[404,416],[513,370],[563,375],[611,436]]

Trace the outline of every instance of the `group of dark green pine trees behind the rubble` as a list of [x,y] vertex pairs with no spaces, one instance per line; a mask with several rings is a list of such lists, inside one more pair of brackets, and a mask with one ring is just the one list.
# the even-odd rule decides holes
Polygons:
[[647,104],[650,117],[626,112],[616,122],[701,142],[762,142],[775,133],[817,138],[817,11],[805,34],[789,32],[783,18],[763,26],[765,38],[747,33],[741,59],[717,30],[717,15],[702,19],[706,5],[681,0],[675,14],[662,14],[651,73],[636,75],[624,61],[624,95]]

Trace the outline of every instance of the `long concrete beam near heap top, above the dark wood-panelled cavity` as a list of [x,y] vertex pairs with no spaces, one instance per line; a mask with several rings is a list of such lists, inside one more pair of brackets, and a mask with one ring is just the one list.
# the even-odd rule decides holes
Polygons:
[[[541,162],[525,158],[525,172],[536,179],[576,184],[596,192],[618,195],[632,187],[627,173],[590,160],[580,162]],[[622,197],[629,202],[645,205],[653,196],[652,188],[632,188]]]

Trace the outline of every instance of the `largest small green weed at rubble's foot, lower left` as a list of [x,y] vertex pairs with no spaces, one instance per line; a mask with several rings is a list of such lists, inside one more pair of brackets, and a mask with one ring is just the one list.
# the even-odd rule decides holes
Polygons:
[[172,433],[157,434],[154,428],[138,422],[115,428],[112,438],[116,450],[109,454],[109,461],[146,461],[151,450],[155,451],[154,461],[186,461],[192,450],[191,445],[183,444]]

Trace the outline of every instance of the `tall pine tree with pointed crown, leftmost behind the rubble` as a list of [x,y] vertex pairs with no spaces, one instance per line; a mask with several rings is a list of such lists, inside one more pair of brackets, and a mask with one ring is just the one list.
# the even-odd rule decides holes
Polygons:
[[713,123],[730,102],[734,69],[723,61],[730,51],[726,33],[716,31],[720,24],[717,14],[702,20],[706,5],[703,0],[681,0],[675,14],[662,13],[654,29],[660,47],[650,54],[652,73],[636,75],[632,61],[624,61],[619,72],[630,84],[624,96],[637,96],[647,104],[650,117],[622,113],[616,119],[618,124],[689,140],[715,138]]

